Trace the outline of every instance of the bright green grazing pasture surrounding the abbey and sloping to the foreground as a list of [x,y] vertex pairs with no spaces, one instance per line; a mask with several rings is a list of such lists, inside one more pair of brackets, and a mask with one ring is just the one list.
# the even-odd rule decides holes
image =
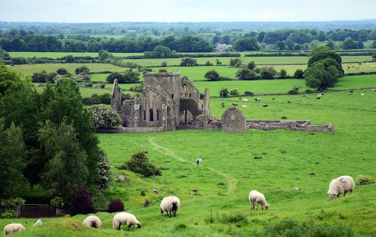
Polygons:
[[[268,82],[271,85],[280,81]],[[360,96],[361,92],[365,95]],[[102,220],[100,229],[82,226],[87,215],[77,215],[42,219],[43,225],[36,227],[32,227],[36,219],[18,219],[26,231],[17,234],[264,236],[271,225],[288,217],[299,226],[311,221],[312,226],[321,231],[341,223],[350,226],[356,236],[373,236],[376,234],[376,184],[355,185],[351,196],[349,193],[346,197],[341,195],[334,201],[330,201],[326,193],[330,181],[340,175],[351,175],[355,182],[358,174],[376,177],[376,138],[373,135],[376,93],[364,89],[353,93],[327,92],[320,100],[315,100],[316,96],[262,96],[258,97],[261,103],[252,101],[255,97],[246,97],[248,102],[225,98],[224,103],[226,107],[232,101],[246,104],[248,107],[240,107],[240,110],[247,119],[280,119],[282,116],[308,119],[312,124],[333,123],[335,133],[183,130],[160,134],[98,134],[100,146],[107,150],[115,167],[136,151],[148,150],[150,162],[163,168],[163,176],[152,178],[115,169],[116,174],[125,174],[129,181],[116,181],[104,192],[107,202],[121,199],[127,212],[141,222],[141,229],[132,227],[131,231],[124,232],[122,226],[120,232],[116,231],[112,229],[114,214],[97,213]],[[288,104],[287,100],[293,103]],[[220,107],[221,99],[210,102],[211,114],[220,118],[226,109]],[[262,107],[264,104],[269,106]],[[261,159],[254,159],[255,156]],[[196,165],[196,157],[202,158],[201,166]],[[159,195],[152,193],[154,185]],[[301,190],[296,191],[294,187]],[[193,189],[199,192],[194,193]],[[261,210],[260,206],[259,210],[250,210],[248,194],[253,189],[264,193],[271,204],[269,210]],[[141,196],[141,191],[145,191],[146,196]],[[168,218],[160,213],[159,204],[164,196],[170,195],[178,196],[181,206],[176,217]],[[146,198],[150,200],[150,207],[143,208]],[[223,218],[231,214],[232,220]],[[240,219],[235,216],[242,221],[237,222]],[[5,226],[14,220],[1,219],[0,222]]]

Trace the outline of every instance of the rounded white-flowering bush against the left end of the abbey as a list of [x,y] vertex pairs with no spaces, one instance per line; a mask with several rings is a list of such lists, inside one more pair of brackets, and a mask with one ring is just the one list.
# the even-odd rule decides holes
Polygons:
[[94,104],[89,110],[92,112],[90,121],[97,128],[113,128],[121,124],[120,116],[106,104]]

